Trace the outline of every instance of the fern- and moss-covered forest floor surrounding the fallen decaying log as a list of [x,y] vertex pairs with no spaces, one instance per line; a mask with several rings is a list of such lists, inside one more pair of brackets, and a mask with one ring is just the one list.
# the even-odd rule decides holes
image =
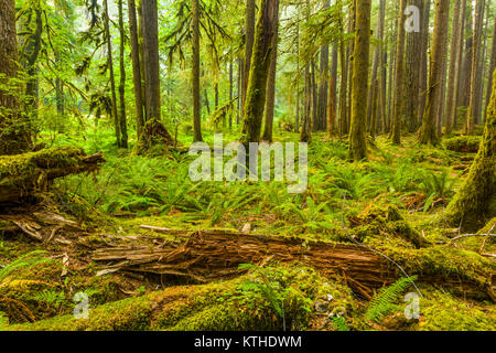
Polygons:
[[[276,140],[293,138],[284,133]],[[212,136],[206,135],[205,139],[212,142]],[[481,255],[494,254],[493,238],[451,242],[457,233],[441,217],[466,176],[474,157],[471,153],[418,147],[413,137],[403,139],[401,147],[378,138],[369,150],[368,162],[351,164],[346,143],[315,136],[310,148],[309,190],[301,195],[289,195],[285,184],[277,182],[192,183],[187,178],[188,159],[181,154],[144,158],[127,156],[108,146],[106,157],[108,163],[95,180],[66,178],[52,191],[57,205],[54,211],[84,222],[97,234],[139,238],[150,234],[140,228],[143,224],[192,231],[213,227],[240,231],[248,226],[254,233],[273,236],[364,242],[395,259],[409,275],[423,274],[427,279],[455,275],[483,288],[494,272],[494,259]],[[490,227],[488,223],[481,233]],[[99,242],[98,236],[95,242]],[[0,235],[0,264],[36,248],[40,245],[26,237]],[[97,277],[97,268],[90,264],[80,267],[71,264],[68,274],[61,276],[62,259],[54,261],[20,277],[50,286],[26,282],[22,290],[9,286],[8,295],[25,301],[36,322],[17,325],[11,320],[12,325],[6,329],[282,330],[280,315],[260,288],[239,289],[247,277],[206,286],[162,287],[120,275]],[[343,315],[352,330],[496,328],[495,306],[487,298],[468,299],[463,288],[451,285],[434,288],[422,276],[418,281],[423,295],[420,320],[406,320],[402,310],[397,309],[380,322],[368,322],[365,318],[368,303],[338,279],[322,278],[310,269],[276,266],[270,271],[278,284],[277,292],[287,296],[287,324],[296,330],[335,330],[336,315]],[[262,278],[257,270],[248,276]],[[284,276],[290,279],[284,280]],[[293,289],[288,291],[290,288]],[[62,303],[30,299],[31,293],[45,291],[64,293],[65,299]],[[89,320],[75,320],[71,315],[75,306],[72,299],[77,291],[91,293]],[[0,290],[0,296],[6,292]],[[406,306],[402,298],[397,304]]]

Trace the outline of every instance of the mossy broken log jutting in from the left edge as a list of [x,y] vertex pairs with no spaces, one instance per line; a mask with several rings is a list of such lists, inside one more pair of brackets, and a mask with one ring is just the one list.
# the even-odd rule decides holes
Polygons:
[[103,153],[86,156],[76,147],[45,149],[0,157],[0,203],[17,202],[35,191],[45,191],[57,178],[93,172],[105,162]]

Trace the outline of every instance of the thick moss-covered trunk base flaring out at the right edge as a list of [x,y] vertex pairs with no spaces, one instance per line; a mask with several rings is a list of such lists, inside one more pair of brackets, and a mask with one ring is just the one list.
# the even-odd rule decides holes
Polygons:
[[445,217],[453,225],[477,229],[496,214],[496,72],[487,108],[484,137],[467,179],[449,205]]

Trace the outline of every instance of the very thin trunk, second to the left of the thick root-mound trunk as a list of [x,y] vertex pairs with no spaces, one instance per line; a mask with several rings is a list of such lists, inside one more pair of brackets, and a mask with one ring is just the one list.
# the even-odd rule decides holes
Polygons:
[[120,146],[128,148],[128,122],[126,118],[126,65],[125,65],[125,41],[126,32],[123,26],[123,0],[118,0],[119,9],[119,34],[120,34],[120,47],[119,47],[119,68],[120,68],[120,84],[119,84],[119,99],[120,99],[120,114],[119,114],[119,127],[120,127]]

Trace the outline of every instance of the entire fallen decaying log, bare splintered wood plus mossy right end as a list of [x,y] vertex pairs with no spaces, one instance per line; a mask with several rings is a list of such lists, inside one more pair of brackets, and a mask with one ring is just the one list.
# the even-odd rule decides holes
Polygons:
[[395,252],[390,248],[395,246],[385,247],[384,253],[396,265],[358,244],[205,231],[194,233],[181,246],[166,242],[158,244],[155,239],[153,245],[101,248],[94,252],[93,258],[105,264],[109,272],[173,275],[200,282],[240,276],[240,264],[299,263],[328,278],[346,278],[349,288],[367,299],[375,290],[405,276],[397,267],[399,264],[408,268],[408,275],[418,275],[421,281],[450,287],[470,297],[494,299],[492,286],[496,266],[475,253],[444,247]]

